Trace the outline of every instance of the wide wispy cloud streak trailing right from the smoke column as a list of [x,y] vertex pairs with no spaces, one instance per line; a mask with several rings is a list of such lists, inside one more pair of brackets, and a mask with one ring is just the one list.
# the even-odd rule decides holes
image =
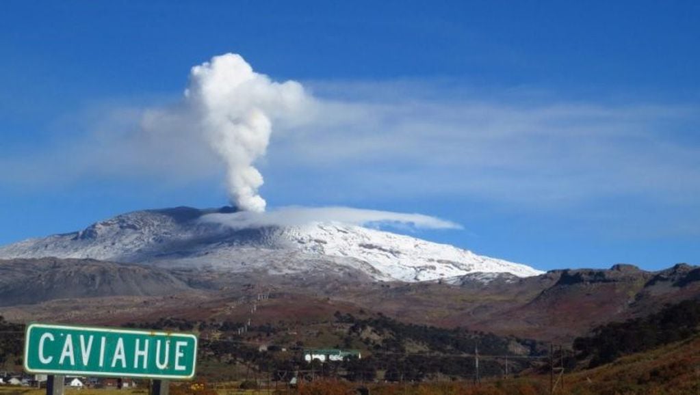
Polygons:
[[700,192],[688,182],[700,179],[700,145],[678,138],[699,125],[692,106],[440,101],[405,90],[382,103],[345,100],[320,103],[325,127],[276,136],[269,170],[311,173],[304,181],[319,185],[308,189],[540,206]]

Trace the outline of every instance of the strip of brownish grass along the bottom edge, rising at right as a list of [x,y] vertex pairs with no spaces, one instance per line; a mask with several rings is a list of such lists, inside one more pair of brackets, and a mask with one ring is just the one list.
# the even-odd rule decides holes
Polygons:
[[[631,354],[610,364],[568,373],[565,387],[555,394],[566,395],[685,395],[700,394],[700,336],[693,336],[647,352]],[[288,392],[240,389],[240,382],[174,382],[171,395],[349,395],[357,394],[359,383],[342,380],[301,382]],[[421,382],[368,384],[372,395],[538,395],[549,394],[549,376],[533,375],[510,380],[492,380],[475,386],[470,382]],[[0,395],[43,395],[44,389],[0,386]],[[146,395],[144,387],[134,389],[69,389],[66,395]]]

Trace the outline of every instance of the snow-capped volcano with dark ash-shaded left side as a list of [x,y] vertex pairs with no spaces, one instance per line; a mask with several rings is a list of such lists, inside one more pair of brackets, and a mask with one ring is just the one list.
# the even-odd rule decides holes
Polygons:
[[97,222],[83,231],[0,247],[0,259],[90,258],[104,261],[218,268],[269,274],[355,273],[406,282],[470,273],[542,272],[482,257],[451,245],[346,224],[231,229],[202,220],[231,208],[144,210]]

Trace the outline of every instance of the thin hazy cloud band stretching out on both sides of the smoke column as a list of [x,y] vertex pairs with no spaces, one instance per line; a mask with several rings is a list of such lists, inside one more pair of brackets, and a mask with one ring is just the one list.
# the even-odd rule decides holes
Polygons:
[[[700,111],[692,104],[483,95],[429,82],[314,89],[293,116],[274,110],[285,106],[253,101],[272,108],[276,122],[256,167],[267,180],[262,192],[277,202],[449,197],[551,209],[626,197],[697,204],[700,145],[687,136],[698,134]],[[216,180],[221,162],[181,106],[115,109],[83,138],[0,152],[0,181]]]

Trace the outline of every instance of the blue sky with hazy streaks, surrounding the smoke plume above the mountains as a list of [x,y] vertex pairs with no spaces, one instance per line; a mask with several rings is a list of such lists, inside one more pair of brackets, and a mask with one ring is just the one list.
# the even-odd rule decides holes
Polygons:
[[273,127],[269,206],[434,215],[464,229],[416,236],[541,269],[700,263],[694,1],[1,7],[1,244],[225,204],[212,160],[134,159],[129,138],[234,52],[330,108]]

